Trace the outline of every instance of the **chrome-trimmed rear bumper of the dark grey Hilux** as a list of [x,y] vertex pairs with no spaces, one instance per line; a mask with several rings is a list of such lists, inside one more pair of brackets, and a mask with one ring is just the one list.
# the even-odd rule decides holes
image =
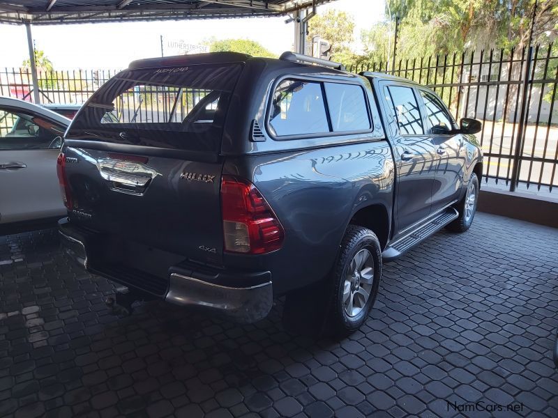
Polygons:
[[[98,264],[93,268],[88,256],[86,234],[75,231],[66,218],[59,221],[59,233],[66,254],[83,268],[124,286],[146,291],[146,288],[141,285],[135,286],[136,284],[130,281],[129,277],[133,274],[127,274],[125,279],[121,279],[117,274],[104,272]],[[227,286],[220,280],[220,276],[226,278]],[[208,278],[211,281],[208,281]],[[253,283],[255,278],[256,284],[250,286],[229,286],[247,281]],[[269,272],[216,272],[208,275],[206,270],[197,272],[195,269],[173,266],[169,268],[167,290],[163,295],[157,296],[166,302],[184,307],[202,307],[238,323],[254,323],[269,314],[273,305],[273,285]]]

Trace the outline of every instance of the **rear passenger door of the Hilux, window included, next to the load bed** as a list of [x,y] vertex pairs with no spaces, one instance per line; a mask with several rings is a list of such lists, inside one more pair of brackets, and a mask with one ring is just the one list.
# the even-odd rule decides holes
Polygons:
[[393,137],[397,167],[396,204],[398,228],[405,231],[430,215],[436,151],[425,134],[416,90],[407,84],[380,82],[386,116]]

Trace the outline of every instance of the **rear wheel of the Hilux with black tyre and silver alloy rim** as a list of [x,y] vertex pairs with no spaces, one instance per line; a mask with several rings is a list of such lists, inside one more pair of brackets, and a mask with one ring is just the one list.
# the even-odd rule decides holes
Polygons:
[[382,249],[375,233],[362,226],[349,225],[332,276],[333,303],[326,332],[346,336],[365,322],[378,294]]

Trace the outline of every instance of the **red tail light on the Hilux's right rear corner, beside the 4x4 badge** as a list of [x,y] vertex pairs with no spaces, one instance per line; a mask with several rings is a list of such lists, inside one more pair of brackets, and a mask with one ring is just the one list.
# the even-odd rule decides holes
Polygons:
[[225,251],[264,254],[281,248],[285,231],[252,183],[223,176],[221,203]]

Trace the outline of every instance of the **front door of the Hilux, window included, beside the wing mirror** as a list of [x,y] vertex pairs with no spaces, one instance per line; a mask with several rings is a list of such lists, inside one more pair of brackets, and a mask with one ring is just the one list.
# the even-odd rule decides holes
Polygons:
[[426,132],[436,148],[437,170],[432,187],[432,212],[458,199],[463,182],[465,148],[446,105],[431,91],[419,88]]

